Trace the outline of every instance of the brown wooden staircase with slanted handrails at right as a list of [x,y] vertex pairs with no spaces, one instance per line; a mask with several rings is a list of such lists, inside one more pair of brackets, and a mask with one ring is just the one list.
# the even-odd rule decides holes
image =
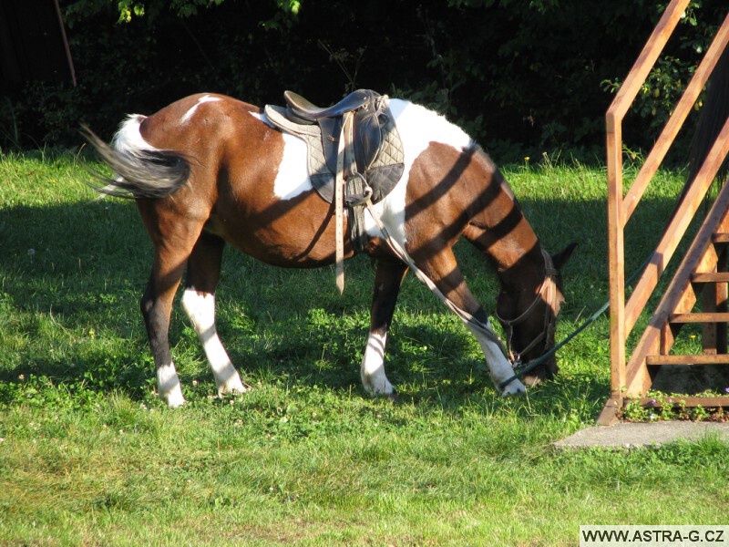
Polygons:
[[[646,397],[647,393],[651,388],[660,385],[661,378],[669,372],[673,374],[685,369],[695,370],[696,367],[718,366],[722,367],[721,370],[729,378],[726,327],[729,323],[729,184],[724,184],[719,191],[714,205],[705,216],[630,357],[626,344],[694,215],[702,209],[711,182],[729,153],[727,120],[702,168],[687,188],[683,201],[677,206],[673,220],[662,234],[642,276],[626,298],[623,248],[626,225],[729,43],[728,14],[642,169],[628,191],[623,191],[622,119],[640,92],[688,4],[689,0],[672,0],[667,6],[606,115],[611,397],[598,419],[601,425],[617,421],[621,409],[631,400],[637,399],[646,405],[654,404],[650,397]],[[702,325],[700,353],[672,353],[682,327],[692,324]],[[726,385],[729,386],[729,383]],[[729,397],[680,397],[680,400],[673,397],[673,402],[686,407],[729,407]]]

